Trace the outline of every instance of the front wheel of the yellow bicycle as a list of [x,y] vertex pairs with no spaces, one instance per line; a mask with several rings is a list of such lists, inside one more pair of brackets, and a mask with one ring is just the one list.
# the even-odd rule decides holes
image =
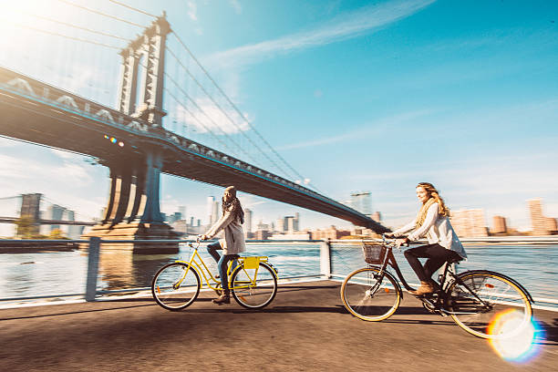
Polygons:
[[167,310],[178,311],[200,294],[200,275],[188,263],[169,263],[160,268],[151,282],[151,294]]

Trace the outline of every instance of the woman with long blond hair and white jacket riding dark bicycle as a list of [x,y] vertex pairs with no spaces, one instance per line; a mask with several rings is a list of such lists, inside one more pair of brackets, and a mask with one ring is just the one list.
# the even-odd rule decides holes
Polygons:
[[[449,210],[438,190],[429,182],[420,182],[417,185],[417,198],[422,202],[417,218],[393,233],[386,233],[385,236],[399,238],[412,231],[407,237],[396,239],[400,246],[426,235],[429,244],[405,251],[408,263],[420,280],[418,289],[411,293],[422,295],[431,294],[436,290],[436,284],[431,279],[432,274],[451,259],[467,258],[467,253],[449,222]],[[428,258],[424,267],[418,258]]]

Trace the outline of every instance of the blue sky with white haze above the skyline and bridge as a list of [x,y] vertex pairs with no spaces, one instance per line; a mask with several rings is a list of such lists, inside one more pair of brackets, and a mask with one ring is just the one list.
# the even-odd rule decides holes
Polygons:
[[[0,31],[14,37],[0,41],[6,50],[0,66],[114,106],[118,50],[84,46],[30,27],[70,32],[37,18],[40,14],[127,38],[138,28],[67,3],[2,1],[12,16]],[[141,25],[152,19],[109,1],[72,3]],[[240,126],[216,117],[208,125],[222,128],[209,139],[184,111],[188,106],[167,97],[170,114],[163,124],[168,129],[208,145],[235,140],[248,152],[257,150],[248,140],[256,129],[326,196],[346,202],[352,191],[370,191],[372,210],[391,227],[416,215],[420,181],[433,183],[452,210],[482,209],[489,226],[494,215],[502,215],[509,225],[529,229],[526,201],[533,198],[542,198],[545,215],[558,217],[556,2],[121,3],[155,15],[166,11],[175,35],[247,119],[225,109],[234,120],[240,118]],[[184,65],[195,67],[176,38],[169,47]],[[169,92],[200,95],[176,62],[169,62],[167,70],[180,77],[181,87],[168,84]],[[199,97],[200,106],[214,106]],[[0,198],[42,192],[78,216],[97,217],[107,202],[108,175],[88,157],[0,139]],[[162,212],[185,205],[189,217],[204,222],[207,197],[220,197],[222,188],[164,175],[160,193]],[[350,227],[245,193],[241,201],[253,210],[254,222],[299,212],[305,229]],[[13,209],[7,204],[0,201],[0,211]],[[2,235],[6,226],[0,229]]]

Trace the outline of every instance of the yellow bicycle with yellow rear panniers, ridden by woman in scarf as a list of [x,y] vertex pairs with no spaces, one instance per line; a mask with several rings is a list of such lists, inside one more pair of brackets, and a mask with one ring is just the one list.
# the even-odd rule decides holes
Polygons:
[[[209,288],[221,294],[221,281],[215,278],[198,253],[197,245],[188,261],[177,260],[160,268],[151,282],[151,294],[157,304],[171,311],[191,305],[202,288],[201,276]],[[227,277],[231,294],[239,305],[261,309],[269,305],[277,294],[277,270],[266,256],[237,256],[238,265],[232,270],[229,262]]]

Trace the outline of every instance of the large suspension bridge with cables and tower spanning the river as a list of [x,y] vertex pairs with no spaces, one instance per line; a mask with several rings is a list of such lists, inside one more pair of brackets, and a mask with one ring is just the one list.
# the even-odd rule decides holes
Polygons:
[[[17,11],[16,21],[6,19],[4,27],[28,44],[10,44],[0,57],[0,135],[86,155],[109,167],[106,212],[93,235],[172,236],[160,213],[160,173],[234,184],[240,191],[387,231],[295,171],[173,32],[164,12],[151,15],[112,0],[107,10],[96,8],[98,3],[48,3],[59,15],[71,9],[76,16],[31,9]],[[119,26],[120,33],[111,31]],[[52,57],[41,58],[46,55]]]

